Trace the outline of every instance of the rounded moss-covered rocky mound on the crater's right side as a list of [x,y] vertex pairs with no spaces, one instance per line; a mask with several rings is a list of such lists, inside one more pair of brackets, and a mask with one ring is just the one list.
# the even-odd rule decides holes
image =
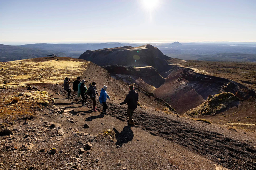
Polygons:
[[239,99],[229,92],[209,95],[207,100],[184,115],[215,115],[235,105]]

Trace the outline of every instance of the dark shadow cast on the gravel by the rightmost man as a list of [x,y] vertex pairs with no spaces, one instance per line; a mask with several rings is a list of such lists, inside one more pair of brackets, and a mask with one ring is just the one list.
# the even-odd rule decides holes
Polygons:
[[131,126],[125,126],[120,133],[116,130],[116,128],[113,128],[113,130],[116,133],[116,140],[117,140],[116,145],[119,145],[120,147],[124,143],[128,143],[133,139],[134,135],[133,135]]

